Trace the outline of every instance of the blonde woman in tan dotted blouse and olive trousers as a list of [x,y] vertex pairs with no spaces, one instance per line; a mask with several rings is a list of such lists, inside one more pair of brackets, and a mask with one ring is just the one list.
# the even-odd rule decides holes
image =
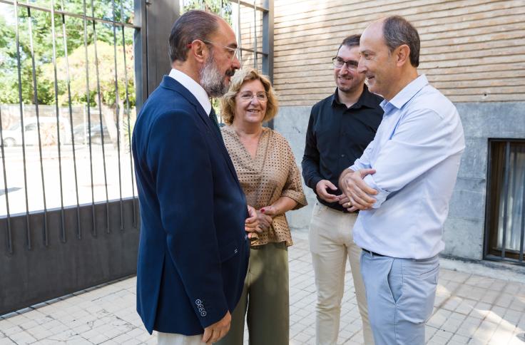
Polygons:
[[278,107],[267,77],[254,68],[238,71],[221,103],[224,143],[257,216],[245,225],[251,249],[243,295],[230,331],[218,344],[243,344],[245,315],[250,344],[288,344],[292,237],[285,212],[307,205],[300,173],[286,139],[263,127]]

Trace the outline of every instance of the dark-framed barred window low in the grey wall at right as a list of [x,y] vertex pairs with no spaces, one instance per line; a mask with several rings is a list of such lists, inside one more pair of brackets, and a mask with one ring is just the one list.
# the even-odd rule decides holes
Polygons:
[[485,258],[524,264],[525,140],[489,140]]

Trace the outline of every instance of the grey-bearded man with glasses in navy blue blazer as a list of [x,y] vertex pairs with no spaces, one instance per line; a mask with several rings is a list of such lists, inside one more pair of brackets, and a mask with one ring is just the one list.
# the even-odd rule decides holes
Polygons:
[[[159,344],[218,341],[243,289],[248,210],[209,97],[240,68],[235,33],[189,11],[169,38],[172,70],[133,130],[141,237],[137,311]],[[249,212],[248,212],[249,211]]]

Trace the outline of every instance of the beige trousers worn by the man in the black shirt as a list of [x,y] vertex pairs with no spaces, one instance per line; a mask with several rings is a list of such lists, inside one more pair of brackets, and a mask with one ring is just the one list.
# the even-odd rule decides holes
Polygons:
[[347,257],[354,279],[365,344],[374,344],[368,320],[365,285],[360,272],[361,248],[352,238],[357,214],[343,213],[316,202],[310,222],[310,252],[317,286],[316,344],[337,344]]

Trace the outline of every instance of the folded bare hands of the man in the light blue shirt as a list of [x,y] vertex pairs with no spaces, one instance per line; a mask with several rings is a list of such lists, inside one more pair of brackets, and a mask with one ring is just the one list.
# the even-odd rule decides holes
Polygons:
[[377,190],[369,187],[363,180],[366,175],[374,174],[374,172],[374,169],[357,171],[346,169],[342,172],[339,185],[348,200],[343,197],[341,201],[344,201],[342,206],[347,207],[348,211],[368,210],[374,205],[376,200],[372,195],[377,195]]

